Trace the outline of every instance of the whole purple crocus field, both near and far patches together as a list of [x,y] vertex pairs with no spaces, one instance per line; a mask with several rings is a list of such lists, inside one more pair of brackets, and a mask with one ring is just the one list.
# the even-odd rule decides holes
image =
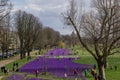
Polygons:
[[[68,49],[50,50],[45,53],[45,56],[47,55],[46,57],[45,56],[38,57],[35,60],[26,63],[19,69],[19,71],[26,72],[29,74],[35,74],[36,69],[39,70],[39,73],[45,72],[46,70],[47,73],[49,73],[50,75],[56,76],[56,77],[63,78],[64,74],[66,73],[69,78],[74,78],[76,76],[73,74],[73,69],[76,69],[78,76],[82,80],[86,80],[85,77],[82,75],[82,72],[85,69],[92,68],[91,65],[74,63],[73,60],[75,58],[49,57],[51,55],[52,56],[69,55],[70,52],[71,50],[68,50]],[[19,75],[16,75],[16,77],[19,77]],[[15,80],[19,80],[19,79],[15,79]],[[41,79],[32,78],[30,80],[41,80]]]

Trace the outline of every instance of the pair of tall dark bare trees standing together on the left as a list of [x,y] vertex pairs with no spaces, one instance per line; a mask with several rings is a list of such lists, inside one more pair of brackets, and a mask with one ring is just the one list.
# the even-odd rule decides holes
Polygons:
[[21,59],[25,57],[26,52],[30,56],[30,51],[38,38],[41,26],[38,18],[32,14],[24,11],[18,11],[15,14],[15,27],[20,40]]

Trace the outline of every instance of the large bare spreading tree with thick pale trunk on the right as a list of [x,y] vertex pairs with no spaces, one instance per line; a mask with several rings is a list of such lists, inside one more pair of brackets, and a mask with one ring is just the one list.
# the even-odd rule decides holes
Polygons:
[[[71,25],[83,47],[94,57],[98,64],[99,75],[106,80],[104,66],[110,55],[118,53],[120,41],[120,1],[93,0],[93,10],[82,13],[77,10],[75,1],[70,1],[70,9],[64,14],[65,22]],[[83,11],[84,12],[84,11]],[[83,40],[86,37],[92,41],[89,44]]]

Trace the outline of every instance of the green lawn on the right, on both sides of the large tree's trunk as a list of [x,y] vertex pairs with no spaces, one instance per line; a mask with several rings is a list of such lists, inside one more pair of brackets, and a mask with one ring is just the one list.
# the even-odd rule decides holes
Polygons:
[[[74,52],[78,52],[77,56],[80,57],[80,60],[75,60],[76,63],[81,64],[97,64],[95,59],[88,53],[83,47],[75,46],[73,47]],[[117,65],[118,70],[115,71],[114,66]],[[110,69],[112,66],[113,69]],[[98,69],[97,69],[98,71]],[[107,80],[120,80],[120,54],[111,55],[108,57],[108,68],[105,69],[106,72],[106,79]],[[83,73],[84,75],[84,73]],[[87,80],[94,80],[92,78],[92,75],[90,75],[89,78],[86,78]]]

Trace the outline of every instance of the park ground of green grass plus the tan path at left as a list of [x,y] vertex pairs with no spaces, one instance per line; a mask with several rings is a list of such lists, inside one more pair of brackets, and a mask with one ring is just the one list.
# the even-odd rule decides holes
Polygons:
[[[76,55],[80,57],[79,60],[75,60],[76,63],[82,63],[82,64],[96,64],[96,61],[93,59],[93,57],[87,52],[85,51],[83,48],[80,47],[74,47],[73,48],[74,52],[78,52]],[[36,57],[38,57],[39,55],[36,54],[37,51],[32,52],[32,59],[34,60]],[[19,62],[19,67],[21,67],[22,65],[24,65],[25,63],[27,63],[27,58],[20,60],[18,58],[18,56],[4,60],[4,61],[0,61],[0,65],[6,65],[6,67],[8,69],[11,69],[11,65],[13,65],[14,62]],[[118,69],[115,70],[114,66],[117,66]],[[97,70],[98,71],[98,70]],[[120,54],[115,54],[112,55],[108,58],[108,67],[105,69],[106,71],[106,77],[107,80],[119,80],[119,75],[120,75]],[[11,74],[13,74],[12,72],[10,72],[8,75],[4,75],[3,73],[0,73],[0,80],[6,80],[6,77],[10,76]],[[16,74],[25,74],[25,73],[16,73]],[[83,72],[84,74],[84,72]],[[29,77],[35,77],[35,75],[29,75]],[[55,76],[51,76],[49,74],[47,75],[40,75],[39,78],[48,78],[50,80],[63,80],[62,78],[57,78]],[[89,73],[89,76],[86,77],[86,80],[94,80],[91,73]]]

